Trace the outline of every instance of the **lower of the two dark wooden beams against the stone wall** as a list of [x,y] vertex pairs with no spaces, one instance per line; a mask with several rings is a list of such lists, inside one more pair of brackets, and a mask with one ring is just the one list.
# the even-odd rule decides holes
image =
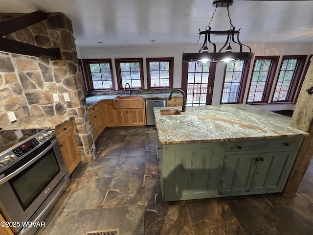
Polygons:
[[37,47],[34,45],[17,42],[7,38],[0,38],[0,51],[36,57],[45,55],[52,57],[54,59],[61,58],[60,48]]

